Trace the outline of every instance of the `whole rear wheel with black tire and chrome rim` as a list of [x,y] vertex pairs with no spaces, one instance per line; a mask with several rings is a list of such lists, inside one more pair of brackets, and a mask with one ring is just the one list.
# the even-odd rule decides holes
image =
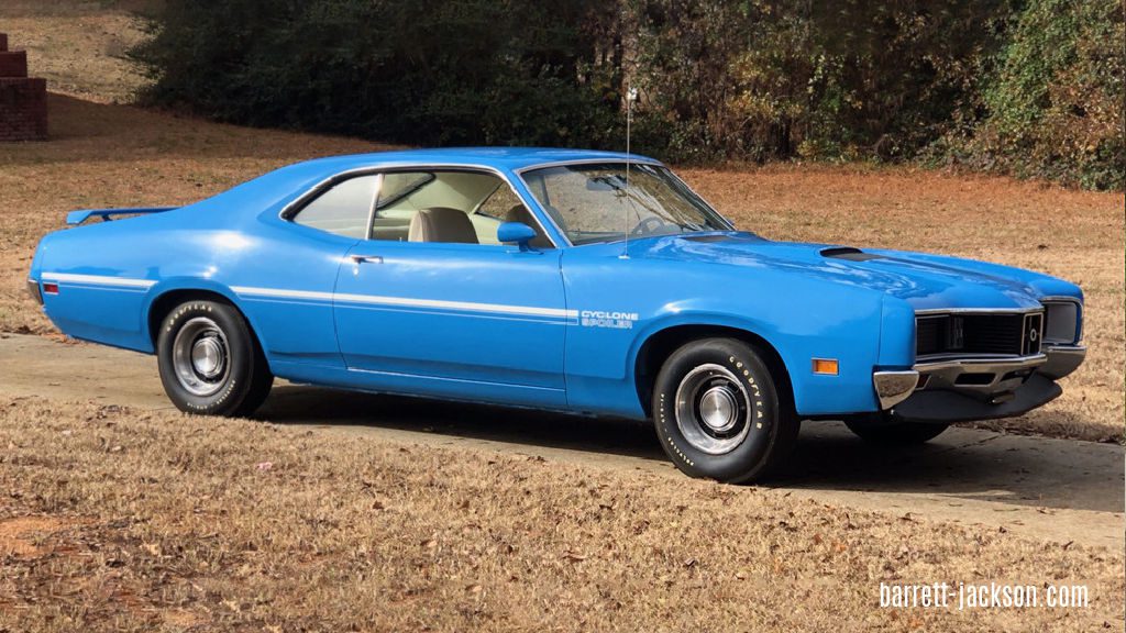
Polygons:
[[231,304],[188,301],[160,321],[157,358],[164,392],[180,411],[249,416],[274,384],[247,320]]

